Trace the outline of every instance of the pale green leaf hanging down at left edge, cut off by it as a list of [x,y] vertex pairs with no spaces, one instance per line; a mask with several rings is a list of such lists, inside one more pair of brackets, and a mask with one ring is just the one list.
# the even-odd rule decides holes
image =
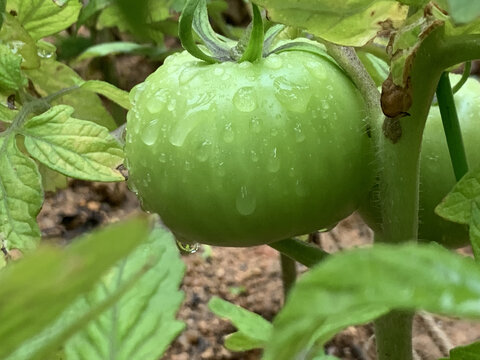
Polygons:
[[31,250],[40,240],[36,217],[43,191],[37,165],[18,149],[15,136],[0,137],[0,169],[0,238],[7,249]]

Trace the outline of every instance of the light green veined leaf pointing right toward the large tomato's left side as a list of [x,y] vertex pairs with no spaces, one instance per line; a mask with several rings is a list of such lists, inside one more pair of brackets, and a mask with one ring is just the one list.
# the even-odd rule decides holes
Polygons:
[[106,128],[72,118],[73,108],[57,105],[28,120],[21,134],[32,157],[66,176],[89,181],[123,181],[115,170],[123,151]]

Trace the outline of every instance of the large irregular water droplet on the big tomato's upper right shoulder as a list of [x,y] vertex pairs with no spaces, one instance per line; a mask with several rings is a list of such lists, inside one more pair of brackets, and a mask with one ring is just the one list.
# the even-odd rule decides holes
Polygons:
[[308,86],[295,84],[280,76],[273,82],[275,97],[288,110],[304,113],[312,97],[312,91]]

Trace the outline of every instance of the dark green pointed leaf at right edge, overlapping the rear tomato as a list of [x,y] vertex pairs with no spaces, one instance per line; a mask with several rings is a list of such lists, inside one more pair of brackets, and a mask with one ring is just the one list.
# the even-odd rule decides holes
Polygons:
[[470,170],[435,208],[446,220],[470,226],[470,242],[480,259],[480,168]]

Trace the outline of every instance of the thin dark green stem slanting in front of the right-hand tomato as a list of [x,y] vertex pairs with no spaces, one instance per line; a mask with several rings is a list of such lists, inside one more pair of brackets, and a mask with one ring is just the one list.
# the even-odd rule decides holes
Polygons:
[[468,163],[448,72],[444,72],[440,76],[437,86],[437,99],[453,171],[456,180],[459,181],[468,172]]

